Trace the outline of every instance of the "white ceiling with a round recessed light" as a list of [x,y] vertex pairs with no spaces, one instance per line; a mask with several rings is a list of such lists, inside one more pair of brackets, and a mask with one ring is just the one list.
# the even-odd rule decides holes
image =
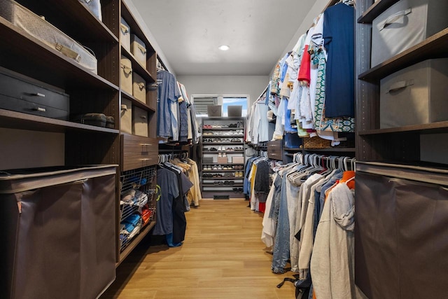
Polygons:
[[[184,76],[267,76],[316,3],[316,0],[130,1],[160,46],[171,71]],[[307,24],[311,22],[308,20]],[[221,45],[230,46],[230,50],[218,50]]]

